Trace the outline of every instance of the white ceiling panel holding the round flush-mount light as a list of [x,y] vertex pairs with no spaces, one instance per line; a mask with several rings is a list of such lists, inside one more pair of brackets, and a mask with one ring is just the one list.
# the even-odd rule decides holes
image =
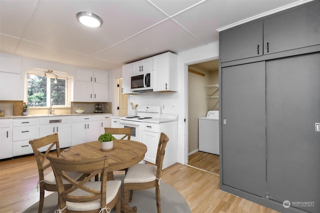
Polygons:
[[[75,17],[79,11],[96,13],[102,26],[83,26]],[[164,18],[162,12],[140,0],[39,1],[23,39],[90,56]]]

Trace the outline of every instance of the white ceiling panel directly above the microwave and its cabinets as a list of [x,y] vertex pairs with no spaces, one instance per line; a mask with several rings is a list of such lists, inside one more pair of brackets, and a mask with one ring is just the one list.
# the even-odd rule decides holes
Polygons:
[[111,61],[120,58],[122,60],[118,62],[127,63],[160,52],[178,52],[203,44],[173,20],[167,19],[95,56]]

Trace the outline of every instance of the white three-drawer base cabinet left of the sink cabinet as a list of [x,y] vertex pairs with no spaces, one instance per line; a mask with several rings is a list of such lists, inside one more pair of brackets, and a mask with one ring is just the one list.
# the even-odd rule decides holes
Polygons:
[[12,121],[12,156],[33,153],[29,141],[38,138],[38,119],[25,118]]

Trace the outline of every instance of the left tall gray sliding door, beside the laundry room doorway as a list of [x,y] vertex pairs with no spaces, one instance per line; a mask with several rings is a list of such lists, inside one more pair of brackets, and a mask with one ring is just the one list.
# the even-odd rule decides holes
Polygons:
[[265,194],[265,62],[222,68],[222,184]]

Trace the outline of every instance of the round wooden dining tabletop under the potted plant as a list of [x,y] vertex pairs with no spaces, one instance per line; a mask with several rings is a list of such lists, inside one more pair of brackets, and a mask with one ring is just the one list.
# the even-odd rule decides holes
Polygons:
[[108,156],[108,172],[123,170],[143,160],[146,146],[131,140],[113,140],[113,149],[100,150],[100,142],[78,144],[63,150],[59,158],[67,160],[87,160],[98,156]]

